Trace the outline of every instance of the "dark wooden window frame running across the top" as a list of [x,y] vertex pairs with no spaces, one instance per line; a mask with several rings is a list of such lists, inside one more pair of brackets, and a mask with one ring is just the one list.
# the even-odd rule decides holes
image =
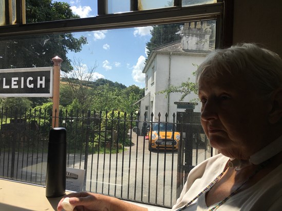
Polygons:
[[[17,0],[17,11],[21,7]],[[175,0],[174,7],[152,9],[144,11],[131,11],[119,14],[103,14],[105,0],[98,0],[98,12],[96,17],[77,18],[67,20],[55,20],[24,24],[20,23],[0,26],[0,38],[23,35],[37,35],[48,33],[69,33],[92,30],[105,30],[129,27],[142,27],[160,24],[172,24],[191,22],[196,20],[217,20],[216,48],[229,47],[232,45],[233,35],[233,5],[234,0],[221,0],[218,3],[182,7],[181,1]],[[136,0],[132,1],[133,3]],[[133,4],[132,3],[132,4]],[[135,3],[136,4],[136,3]],[[134,9],[136,5],[131,5]],[[22,16],[18,12],[17,18]],[[17,19],[18,20],[18,19]]]

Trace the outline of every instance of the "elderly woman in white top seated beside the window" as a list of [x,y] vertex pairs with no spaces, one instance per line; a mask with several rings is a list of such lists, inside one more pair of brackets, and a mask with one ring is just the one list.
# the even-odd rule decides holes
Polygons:
[[[282,60],[253,44],[216,50],[197,82],[201,124],[220,154],[193,168],[172,210],[281,210]],[[147,210],[99,194],[68,197],[77,210]]]

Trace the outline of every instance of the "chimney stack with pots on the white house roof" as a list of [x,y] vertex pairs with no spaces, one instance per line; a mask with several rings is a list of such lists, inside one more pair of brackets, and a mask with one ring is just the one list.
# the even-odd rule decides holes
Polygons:
[[212,30],[206,22],[185,23],[182,31],[181,47],[184,51],[209,51]]

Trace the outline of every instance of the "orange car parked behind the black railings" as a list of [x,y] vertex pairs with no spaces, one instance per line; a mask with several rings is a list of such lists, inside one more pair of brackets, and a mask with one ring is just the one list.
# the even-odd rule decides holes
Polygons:
[[178,150],[180,133],[176,131],[173,123],[153,123],[152,129],[148,132],[148,149],[152,150]]

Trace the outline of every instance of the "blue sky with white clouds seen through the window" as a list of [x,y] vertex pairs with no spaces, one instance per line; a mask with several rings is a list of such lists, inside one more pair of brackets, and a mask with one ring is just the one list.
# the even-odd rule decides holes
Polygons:
[[[93,17],[97,15],[97,0],[61,0],[71,6],[74,14],[80,17]],[[148,1],[148,4],[151,4]],[[154,1],[154,6],[162,5],[163,0]],[[109,0],[109,13],[129,11],[130,0]],[[148,5],[146,5],[147,7]],[[150,6],[148,6],[150,7]],[[127,29],[101,30],[73,33],[74,37],[84,36],[88,44],[84,45],[79,53],[68,53],[68,58],[79,59],[80,67],[85,73],[97,66],[92,80],[105,78],[119,82],[126,87],[136,85],[145,87],[146,43],[151,38],[148,27]]]

